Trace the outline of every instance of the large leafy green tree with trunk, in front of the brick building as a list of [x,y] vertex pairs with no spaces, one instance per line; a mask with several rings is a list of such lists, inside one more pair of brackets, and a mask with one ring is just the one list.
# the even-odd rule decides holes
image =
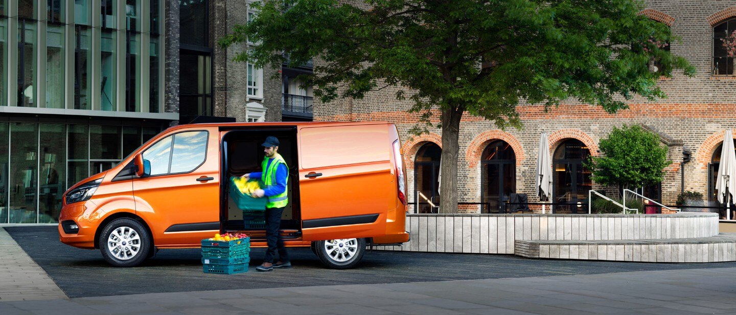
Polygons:
[[[350,3],[355,3],[350,1]],[[637,13],[634,0],[263,0],[260,13],[219,43],[250,40],[236,60],[257,66],[325,63],[302,77],[322,102],[362,98],[397,87],[421,113],[411,130],[442,129],[442,202],[457,210],[458,137],[462,116],[521,127],[520,102],[550,109],[564,99],[626,108],[635,95],[655,99],[662,68],[693,74],[682,57],[656,43],[673,41],[665,24]],[[322,66],[319,66],[322,65]],[[431,121],[439,113],[439,124]]]

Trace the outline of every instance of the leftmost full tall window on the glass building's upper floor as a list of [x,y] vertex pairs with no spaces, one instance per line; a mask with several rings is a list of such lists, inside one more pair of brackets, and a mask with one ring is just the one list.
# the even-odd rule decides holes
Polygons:
[[35,69],[36,58],[35,22],[18,22],[18,106],[36,107]]

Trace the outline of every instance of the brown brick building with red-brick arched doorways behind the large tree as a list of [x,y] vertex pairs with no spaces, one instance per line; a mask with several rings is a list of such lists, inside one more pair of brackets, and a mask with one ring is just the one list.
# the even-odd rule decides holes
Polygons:
[[[512,193],[535,196],[537,146],[542,132],[548,132],[553,159],[553,199],[585,205],[588,190],[604,190],[590,181],[590,172],[581,164],[587,155],[599,155],[598,142],[613,127],[641,124],[656,132],[669,148],[673,163],[665,169],[661,186],[645,188],[645,194],[665,205],[673,205],[683,190],[698,191],[715,200],[713,186],[718,170],[720,148],[726,128],[736,127],[736,72],[734,58],[726,57],[721,38],[736,30],[736,1],[645,1],[641,14],[670,26],[682,42],[671,43],[674,54],[687,58],[697,68],[695,77],[675,73],[659,85],[667,99],[648,102],[634,99],[628,110],[605,113],[601,107],[562,102],[544,112],[540,105],[520,105],[517,111],[522,130],[498,130],[491,121],[466,115],[461,122],[459,157],[459,202],[486,205],[460,205],[463,212],[496,212]],[[314,118],[319,121],[382,120],[397,124],[404,141],[408,169],[409,201],[417,191],[438,202],[439,146],[441,130],[411,137],[408,130],[418,114],[406,113],[411,101],[397,101],[395,91],[371,93],[364,99],[339,99],[317,104]],[[437,115],[435,115],[436,117]],[[692,152],[692,161],[681,167],[682,151]],[[682,176],[684,171],[684,185]],[[430,178],[431,177],[431,178]],[[420,197],[420,212],[430,209]],[[560,212],[575,212],[576,207],[560,207]],[[587,209],[585,209],[587,213]]]

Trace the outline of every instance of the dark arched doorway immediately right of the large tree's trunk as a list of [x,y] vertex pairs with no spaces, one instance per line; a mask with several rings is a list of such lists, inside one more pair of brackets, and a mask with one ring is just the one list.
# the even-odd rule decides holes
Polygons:
[[[481,155],[481,199],[485,213],[503,213],[504,203],[516,191],[516,155],[503,140],[493,141]],[[486,208],[487,207],[487,208]]]

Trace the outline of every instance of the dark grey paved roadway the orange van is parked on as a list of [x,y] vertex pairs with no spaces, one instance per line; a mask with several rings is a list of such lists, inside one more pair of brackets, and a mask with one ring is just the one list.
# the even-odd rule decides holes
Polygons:
[[263,250],[254,249],[250,272],[211,275],[202,273],[199,249],[161,250],[144,266],[113,268],[105,263],[98,250],[61,244],[56,227],[5,229],[68,297],[736,267],[736,263],[531,260],[513,255],[377,251],[368,252],[358,268],[332,270],[325,269],[311,250],[292,249],[294,269],[259,273],[254,268],[261,262]]

